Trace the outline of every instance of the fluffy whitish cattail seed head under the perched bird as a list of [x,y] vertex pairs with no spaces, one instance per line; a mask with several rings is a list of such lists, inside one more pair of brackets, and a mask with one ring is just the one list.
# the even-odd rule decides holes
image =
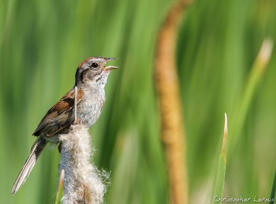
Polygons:
[[88,128],[85,125],[72,125],[69,134],[60,135],[61,161],[59,176],[64,170],[63,204],[103,203],[106,185],[97,167],[90,163],[92,147]]

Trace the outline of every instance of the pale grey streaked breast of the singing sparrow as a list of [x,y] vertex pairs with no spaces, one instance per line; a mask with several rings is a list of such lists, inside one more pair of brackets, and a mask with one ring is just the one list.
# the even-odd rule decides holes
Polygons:
[[104,89],[84,89],[83,99],[77,106],[77,117],[81,119],[84,125],[90,127],[99,119],[105,101]]

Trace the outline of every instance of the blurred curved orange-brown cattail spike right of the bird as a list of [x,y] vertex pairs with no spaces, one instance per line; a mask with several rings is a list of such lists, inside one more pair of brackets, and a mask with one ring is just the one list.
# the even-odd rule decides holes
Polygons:
[[187,1],[178,1],[161,26],[155,57],[155,77],[161,110],[164,142],[172,203],[188,203],[186,145],[184,120],[179,97],[179,81],[175,62],[177,28]]

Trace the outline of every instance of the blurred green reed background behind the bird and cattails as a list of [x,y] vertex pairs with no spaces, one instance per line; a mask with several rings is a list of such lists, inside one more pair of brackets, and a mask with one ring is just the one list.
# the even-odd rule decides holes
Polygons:
[[[94,162],[110,172],[106,203],[169,203],[153,80],[158,30],[174,1],[0,0],[0,203],[54,203],[57,149],[10,191],[47,110],[91,56],[119,57],[91,128]],[[177,65],[186,126],[190,203],[209,203],[224,112],[231,124],[264,37],[276,40],[276,1],[194,1],[179,29]],[[276,59],[246,107],[228,152],[224,194],[269,197],[276,167]],[[233,117],[232,117],[233,116]],[[237,125],[237,124],[236,124]],[[235,128],[235,127],[234,127]],[[236,131],[237,132],[237,131]]]

